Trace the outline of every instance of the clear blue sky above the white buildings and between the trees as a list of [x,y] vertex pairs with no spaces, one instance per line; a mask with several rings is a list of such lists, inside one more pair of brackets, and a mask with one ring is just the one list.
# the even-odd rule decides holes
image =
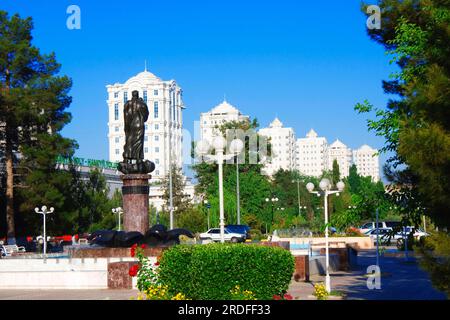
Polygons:
[[[81,30],[66,27],[71,4]],[[366,34],[360,1],[2,0],[0,9],[33,17],[34,44],[73,79],[63,134],[79,157],[108,158],[105,86],[143,71],[144,60],[183,88],[190,131],[226,94],[261,126],[278,116],[297,137],[314,128],[330,143],[383,146],[353,110],[364,99],[384,107],[381,81],[394,70]]]

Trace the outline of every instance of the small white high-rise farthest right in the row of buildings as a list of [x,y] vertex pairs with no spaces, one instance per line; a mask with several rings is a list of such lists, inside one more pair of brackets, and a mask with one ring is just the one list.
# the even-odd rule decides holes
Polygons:
[[377,153],[378,150],[372,149],[366,144],[357,150],[353,150],[353,163],[356,165],[358,174],[364,177],[372,177],[375,182],[380,180]]

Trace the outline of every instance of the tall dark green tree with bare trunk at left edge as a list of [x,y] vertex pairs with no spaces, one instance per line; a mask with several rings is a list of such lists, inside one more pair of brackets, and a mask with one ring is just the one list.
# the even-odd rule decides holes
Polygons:
[[[60,65],[54,54],[41,54],[32,45],[32,29],[31,18],[9,17],[0,11],[0,141],[10,239],[15,238],[15,212],[20,209],[15,203],[18,190],[23,191],[24,199],[35,194],[33,206],[62,206],[62,189],[55,186],[70,184],[71,177],[56,170],[55,159],[58,155],[72,156],[76,146],[60,134],[71,120],[65,111],[71,103],[71,80],[57,76]],[[25,214],[23,209],[20,212]]]

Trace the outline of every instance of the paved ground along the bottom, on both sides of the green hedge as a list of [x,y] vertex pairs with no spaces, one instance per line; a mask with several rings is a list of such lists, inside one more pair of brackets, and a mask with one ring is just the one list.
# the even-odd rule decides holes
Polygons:
[[[347,300],[445,300],[444,293],[431,285],[426,272],[414,258],[381,257],[383,274],[380,290],[367,288],[367,267],[375,264],[375,251],[360,252],[358,267],[352,272],[331,274],[332,290],[343,292]],[[315,300],[314,284],[323,276],[312,276],[311,282],[293,281],[289,293],[296,300]],[[0,300],[130,300],[136,290],[0,290]]]

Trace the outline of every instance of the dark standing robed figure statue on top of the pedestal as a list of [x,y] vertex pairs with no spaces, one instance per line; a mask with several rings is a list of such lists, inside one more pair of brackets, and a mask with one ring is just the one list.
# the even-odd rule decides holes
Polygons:
[[147,104],[139,98],[139,91],[132,92],[132,98],[124,107],[125,146],[123,162],[119,163],[119,171],[124,174],[146,174],[155,170],[155,164],[144,161],[145,122],[149,111]]

